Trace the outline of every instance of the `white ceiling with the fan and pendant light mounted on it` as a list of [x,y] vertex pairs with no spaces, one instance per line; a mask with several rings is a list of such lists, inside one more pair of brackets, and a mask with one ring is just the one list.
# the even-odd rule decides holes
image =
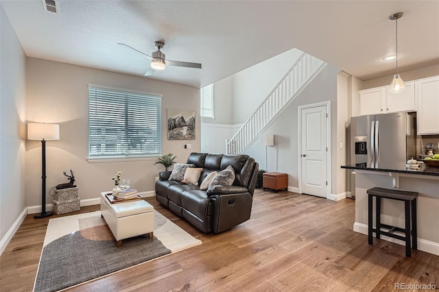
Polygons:
[[400,72],[439,64],[439,1],[110,1],[1,0],[25,54],[143,76],[154,40],[165,40],[167,66],[152,78],[204,86],[296,47],[370,80],[394,73],[398,21]]

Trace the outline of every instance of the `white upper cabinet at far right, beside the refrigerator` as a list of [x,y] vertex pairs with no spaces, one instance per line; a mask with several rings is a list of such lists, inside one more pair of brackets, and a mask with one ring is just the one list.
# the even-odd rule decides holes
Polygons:
[[418,135],[439,134],[439,76],[416,82]]

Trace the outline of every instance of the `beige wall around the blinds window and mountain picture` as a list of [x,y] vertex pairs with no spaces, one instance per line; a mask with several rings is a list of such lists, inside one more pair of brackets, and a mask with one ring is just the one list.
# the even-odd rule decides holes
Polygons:
[[[132,179],[132,187],[139,191],[154,191],[154,178],[161,165],[153,165],[155,158],[115,162],[90,163],[88,154],[88,84],[99,84],[163,95],[163,154],[173,153],[177,162],[185,162],[192,151],[200,151],[200,89],[144,77],[124,75],[75,66],[60,62],[27,59],[26,110],[27,122],[60,124],[60,140],[47,141],[47,193],[67,178],[63,171],[75,171],[76,184],[82,200],[99,197],[112,189],[110,179],[116,171],[123,178]],[[195,110],[196,139],[167,140],[167,108]],[[185,149],[190,143],[192,149]],[[40,205],[40,142],[27,141],[26,205]],[[47,203],[52,197],[47,195]]]

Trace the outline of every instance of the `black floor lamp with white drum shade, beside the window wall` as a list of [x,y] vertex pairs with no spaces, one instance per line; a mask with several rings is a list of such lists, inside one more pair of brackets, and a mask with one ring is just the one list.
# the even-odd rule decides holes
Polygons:
[[54,123],[28,123],[27,140],[41,141],[41,214],[35,215],[34,218],[45,218],[52,215],[52,212],[46,212],[46,141],[60,139],[60,125]]

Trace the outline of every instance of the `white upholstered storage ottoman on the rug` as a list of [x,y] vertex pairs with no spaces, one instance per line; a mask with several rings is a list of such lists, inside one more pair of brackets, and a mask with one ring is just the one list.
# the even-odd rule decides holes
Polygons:
[[149,233],[152,239],[154,232],[154,207],[140,199],[133,202],[110,204],[101,193],[101,212],[112,234],[117,241],[117,247],[122,245],[122,239]]

